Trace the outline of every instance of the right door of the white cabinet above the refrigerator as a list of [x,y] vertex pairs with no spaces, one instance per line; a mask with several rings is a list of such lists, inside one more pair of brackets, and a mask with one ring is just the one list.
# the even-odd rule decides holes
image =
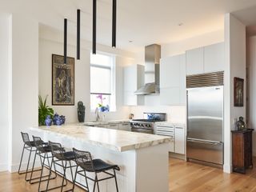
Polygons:
[[204,47],[204,72],[224,70],[224,42]]

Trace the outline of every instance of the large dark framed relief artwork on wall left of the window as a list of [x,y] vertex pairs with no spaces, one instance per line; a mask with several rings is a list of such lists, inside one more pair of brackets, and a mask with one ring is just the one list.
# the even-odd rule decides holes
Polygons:
[[52,105],[74,106],[74,58],[52,55]]

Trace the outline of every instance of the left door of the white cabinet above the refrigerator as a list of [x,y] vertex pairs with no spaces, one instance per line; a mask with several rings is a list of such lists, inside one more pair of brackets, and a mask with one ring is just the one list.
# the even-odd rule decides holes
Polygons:
[[203,74],[203,47],[186,51],[186,74]]

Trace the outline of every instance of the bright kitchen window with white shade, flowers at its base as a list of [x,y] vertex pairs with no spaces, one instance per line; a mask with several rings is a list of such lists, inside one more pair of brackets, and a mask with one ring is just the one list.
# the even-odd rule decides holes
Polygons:
[[113,55],[90,54],[90,110],[116,110],[114,69]]

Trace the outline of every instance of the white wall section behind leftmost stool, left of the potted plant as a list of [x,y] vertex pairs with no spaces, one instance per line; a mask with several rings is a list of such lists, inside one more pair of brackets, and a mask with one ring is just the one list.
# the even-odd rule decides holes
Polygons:
[[12,115],[10,171],[18,170],[22,153],[20,131],[38,125],[38,22],[12,14]]

